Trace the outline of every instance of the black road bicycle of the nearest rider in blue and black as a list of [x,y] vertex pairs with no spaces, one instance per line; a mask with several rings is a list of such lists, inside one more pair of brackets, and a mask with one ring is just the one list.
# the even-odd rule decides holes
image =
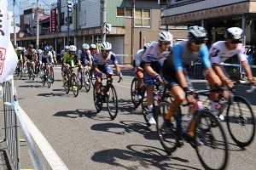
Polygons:
[[[164,116],[169,110],[170,102],[162,100],[155,112],[156,130],[160,144],[166,152],[175,151],[177,147],[183,145],[184,140],[195,148],[197,156],[205,169],[222,170],[227,166],[229,160],[227,139],[218,118],[212,112],[203,109],[197,96],[201,93],[204,92],[195,91],[192,94],[196,99],[196,110],[189,119],[182,115],[180,107],[177,108],[171,118],[171,133],[166,131],[164,122]],[[182,106],[187,105],[189,104]]]

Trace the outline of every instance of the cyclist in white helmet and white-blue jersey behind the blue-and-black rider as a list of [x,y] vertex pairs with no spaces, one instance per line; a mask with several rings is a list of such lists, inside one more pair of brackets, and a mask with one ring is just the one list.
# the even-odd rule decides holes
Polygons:
[[158,42],[152,43],[143,54],[144,79],[147,84],[148,122],[155,125],[153,108],[154,80],[161,82],[160,67],[167,54],[172,50],[172,34],[168,31],[161,31],[158,34]]

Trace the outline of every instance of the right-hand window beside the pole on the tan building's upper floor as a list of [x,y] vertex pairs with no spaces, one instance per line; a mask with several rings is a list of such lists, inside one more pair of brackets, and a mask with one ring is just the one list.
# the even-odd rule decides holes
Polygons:
[[134,21],[136,27],[150,27],[151,10],[145,8],[136,8]]

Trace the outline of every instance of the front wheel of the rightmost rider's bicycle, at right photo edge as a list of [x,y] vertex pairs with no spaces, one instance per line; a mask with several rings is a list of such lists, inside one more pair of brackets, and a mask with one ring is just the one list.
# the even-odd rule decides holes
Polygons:
[[249,101],[234,96],[233,103],[227,109],[227,125],[231,138],[241,147],[253,142],[255,135],[255,117]]

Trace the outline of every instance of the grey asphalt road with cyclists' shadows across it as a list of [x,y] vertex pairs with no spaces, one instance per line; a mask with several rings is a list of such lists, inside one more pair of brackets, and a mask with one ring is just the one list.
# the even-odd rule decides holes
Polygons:
[[[38,77],[35,81],[27,77],[15,78],[15,87],[20,106],[68,169],[202,169],[189,144],[184,144],[172,155],[166,154],[155,127],[147,127],[141,107],[135,109],[131,104],[134,73],[122,72],[123,82],[113,82],[119,98],[119,113],[113,121],[106,110],[96,114],[92,89],[89,93],[82,89],[77,98],[72,92],[65,94],[60,68],[55,67],[55,82],[51,88],[43,87]],[[194,85],[204,88],[203,82]],[[245,94],[245,89],[240,87],[238,94],[249,99],[255,111],[255,92]],[[229,135],[228,140],[230,161],[227,169],[255,169],[255,140],[245,149],[238,147]],[[33,168],[26,143],[20,145],[21,168]],[[51,169],[42,152],[37,150],[45,169]]]

